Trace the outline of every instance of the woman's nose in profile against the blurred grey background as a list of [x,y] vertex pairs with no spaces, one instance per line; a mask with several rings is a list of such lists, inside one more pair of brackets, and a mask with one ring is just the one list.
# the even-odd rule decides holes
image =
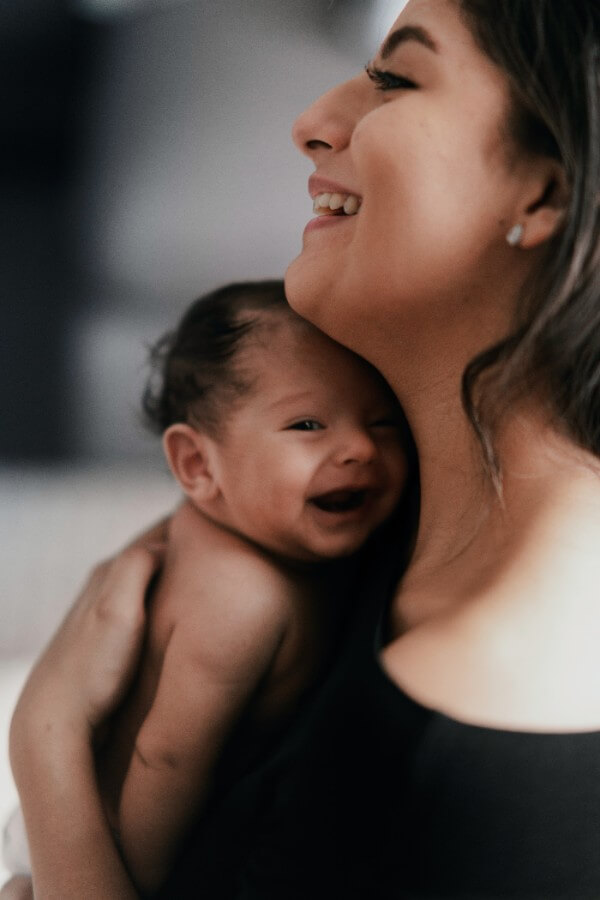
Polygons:
[[337,85],[301,113],[292,129],[294,143],[307,156],[319,151],[343,150],[354,127],[367,111],[365,76]]

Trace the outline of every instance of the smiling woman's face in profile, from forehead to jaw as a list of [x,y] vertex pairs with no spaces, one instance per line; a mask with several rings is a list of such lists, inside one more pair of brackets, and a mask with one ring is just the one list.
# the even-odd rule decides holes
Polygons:
[[390,329],[453,328],[488,295],[485,325],[504,330],[495,288],[522,179],[506,78],[453,0],[410,0],[371,66],[382,74],[334,88],[294,127],[316,166],[311,195],[360,205],[309,222],[286,289],[297,312],[381,364]]

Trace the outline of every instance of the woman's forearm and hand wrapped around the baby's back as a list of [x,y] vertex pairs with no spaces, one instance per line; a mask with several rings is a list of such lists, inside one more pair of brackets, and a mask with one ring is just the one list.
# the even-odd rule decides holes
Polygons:
[[163,536],[158,526],[95,569],[17,704],[10,757],[37,900],[137,896],[100,801],[93,735],[135,670]]

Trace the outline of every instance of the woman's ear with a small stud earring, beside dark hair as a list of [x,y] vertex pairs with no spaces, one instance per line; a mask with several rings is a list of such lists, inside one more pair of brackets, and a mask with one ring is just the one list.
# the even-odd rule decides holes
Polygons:
[[563,167],[552,159],[541,163],[540,177],[527,198],[519,224],[524,250],[539,247],[559,231],[569,203],[570,190]]

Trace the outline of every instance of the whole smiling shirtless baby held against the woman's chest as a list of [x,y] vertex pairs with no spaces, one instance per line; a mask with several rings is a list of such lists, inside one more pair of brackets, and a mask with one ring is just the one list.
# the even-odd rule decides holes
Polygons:
[[170,523],[140,673],[98,754],[130,873],[157,890],[234,728],[285,723],[335,641],[352,560],[396,507],[404,420],[368,363],[280,281],[201,298],[154,352],[144,406],[186,502]]

